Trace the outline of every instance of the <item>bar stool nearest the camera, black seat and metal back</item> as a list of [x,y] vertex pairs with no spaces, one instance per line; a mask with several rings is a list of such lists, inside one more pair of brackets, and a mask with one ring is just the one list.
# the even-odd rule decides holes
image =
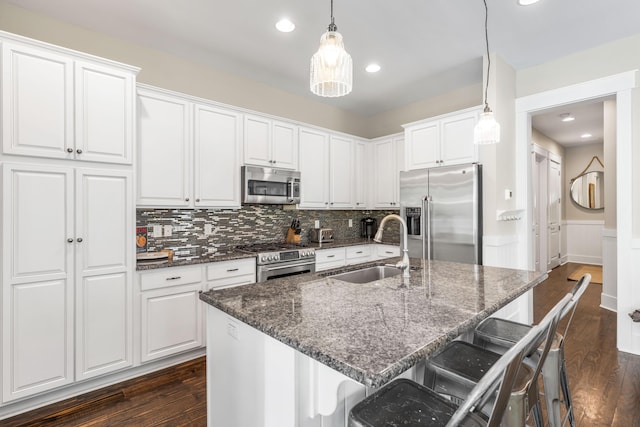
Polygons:
[[[509,403],[511,389],[521,369],[525,351],[551,327],[541,322],[491,366],[457,405],[421,384],[396,379],[355,405],[349,412],[349,427],[382,426],[499,426]],[[489,399],[494,403],[488,415],[479,412]]]

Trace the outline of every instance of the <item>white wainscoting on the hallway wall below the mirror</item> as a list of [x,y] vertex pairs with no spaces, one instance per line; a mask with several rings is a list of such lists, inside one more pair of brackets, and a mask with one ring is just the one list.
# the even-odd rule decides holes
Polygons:
[[604,221],[566,221],[567,261],[602,265]]

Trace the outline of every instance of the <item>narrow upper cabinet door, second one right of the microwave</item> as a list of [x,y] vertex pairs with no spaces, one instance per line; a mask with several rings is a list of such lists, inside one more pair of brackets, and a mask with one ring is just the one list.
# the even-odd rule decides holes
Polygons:
[[329,152],[329,182],[331,185],[329,207],[333,209],[353,208],[353,140],[332,136]]

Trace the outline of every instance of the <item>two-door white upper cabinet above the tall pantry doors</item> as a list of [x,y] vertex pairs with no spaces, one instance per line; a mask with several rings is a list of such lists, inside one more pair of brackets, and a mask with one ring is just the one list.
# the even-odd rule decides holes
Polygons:
[[42,46],[2,42],[2,152],[131,164],[137,68]]

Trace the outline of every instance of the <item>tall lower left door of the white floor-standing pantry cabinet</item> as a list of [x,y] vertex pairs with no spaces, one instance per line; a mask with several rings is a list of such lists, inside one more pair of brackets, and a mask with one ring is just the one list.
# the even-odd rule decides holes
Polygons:
[[69,384],[73,374],[73,174],[2,167],[2,400]]

